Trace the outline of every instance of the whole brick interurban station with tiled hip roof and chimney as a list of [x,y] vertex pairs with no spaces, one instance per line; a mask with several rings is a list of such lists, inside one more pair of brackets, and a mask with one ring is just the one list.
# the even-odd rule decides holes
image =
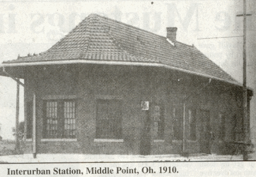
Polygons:
[[176,32],[92,14],[46,52],[3,62],[1,75],[24,79],[24,152],[224,153],[242,141],[241,84]]

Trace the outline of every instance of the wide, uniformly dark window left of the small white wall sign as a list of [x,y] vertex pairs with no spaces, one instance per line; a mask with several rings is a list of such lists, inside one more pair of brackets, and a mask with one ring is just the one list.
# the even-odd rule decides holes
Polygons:
[[96,138],[122,138],[122,101],[115,99],[97,100]]

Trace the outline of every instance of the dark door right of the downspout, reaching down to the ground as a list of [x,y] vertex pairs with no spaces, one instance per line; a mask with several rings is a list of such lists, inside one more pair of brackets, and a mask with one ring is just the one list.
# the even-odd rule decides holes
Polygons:
[[200,110],[198,113],[198,126],[200,134],[200,153],[211,153],[211,127],[210,127],[210,111]]

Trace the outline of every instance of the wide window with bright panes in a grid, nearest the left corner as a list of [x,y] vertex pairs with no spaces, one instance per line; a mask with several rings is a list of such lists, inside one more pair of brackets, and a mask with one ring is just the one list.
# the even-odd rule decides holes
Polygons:
[[76,102],[45,102],[44,138],[76,138]]

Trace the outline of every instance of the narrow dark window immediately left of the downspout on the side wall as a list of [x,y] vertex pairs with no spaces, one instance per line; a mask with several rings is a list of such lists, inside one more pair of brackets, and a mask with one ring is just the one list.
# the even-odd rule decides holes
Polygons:
[[183,110],[173,108],[173,139],[182,140],[183,137]]

